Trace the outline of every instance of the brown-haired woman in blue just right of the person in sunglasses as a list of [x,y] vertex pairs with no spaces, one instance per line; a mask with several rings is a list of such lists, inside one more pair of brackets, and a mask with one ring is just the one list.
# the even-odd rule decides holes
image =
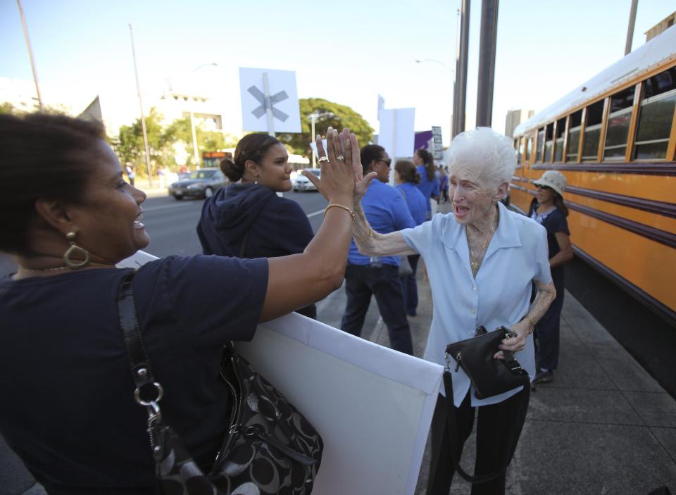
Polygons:
[[[415,187],[420,182],[420,174],[415,170],[415,165],[410,160],[398,160],[394,165],[394,183],[397,184],[403,199],[406,200],[408,211],[411,212],[415,225],[425,221],[427,208],[425,196]],[[401,277],[401,289],[403,289],[403,301],[406,305],[406,314],[415,316],[418,310],[418,282],[415,280],[415,271],[418,269],[420,254],[408,256],[408,264],[412,272]]]

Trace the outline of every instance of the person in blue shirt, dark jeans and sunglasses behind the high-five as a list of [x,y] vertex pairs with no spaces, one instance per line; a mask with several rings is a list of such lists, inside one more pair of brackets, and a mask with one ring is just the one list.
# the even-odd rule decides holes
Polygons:
[[[375,176],[361,205],[373,229],[383,234],[415,227],[403,196],[387,184],[391,162],[382,146],[369,144],[361,149],[364,175],[372,173]],[[341,330],[357,336],[361,334],[371,296],[375,295],[380,315],[387,325],[390,346],[413,355],[411,329],[404,311],[399,280],[399,256],[363,256],[353,240],[345,282],[347,303],[340,323]]]

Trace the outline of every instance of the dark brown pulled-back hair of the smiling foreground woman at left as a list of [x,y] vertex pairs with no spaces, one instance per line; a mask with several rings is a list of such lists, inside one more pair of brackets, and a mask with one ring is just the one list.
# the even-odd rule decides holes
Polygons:
[[77,203],[104,127],[65,115],[0,115],[0,251],[25,253],[35,201]]

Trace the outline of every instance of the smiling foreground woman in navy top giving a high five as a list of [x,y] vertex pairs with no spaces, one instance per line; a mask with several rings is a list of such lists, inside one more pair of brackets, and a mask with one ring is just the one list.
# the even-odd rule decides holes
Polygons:
[[[361,165],[353,134],[327,134],[329,161],[315,183],[337,207],[303,253],[168,256],[134,276],[144,346],[166,392],[163,417],[202,469],[230,428],[223,344],[251,340],[258,322],[342,284],[351,165]],[[0,433],[50,495],[156,489],[116,301],[129,270],[115,265],[150,242],[146,194],[123,180],[104,136],[99,124],[63,115],[0,115],[0,251],[18,265],[0,277]],[[344,161],[334,153],[341,141]]]

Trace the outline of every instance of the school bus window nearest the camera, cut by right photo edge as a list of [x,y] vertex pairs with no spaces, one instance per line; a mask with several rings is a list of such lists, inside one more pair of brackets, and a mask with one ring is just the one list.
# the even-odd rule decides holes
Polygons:
[[644,84],[634,160],[664,160],[676,107],[676,68],[653,75]]

